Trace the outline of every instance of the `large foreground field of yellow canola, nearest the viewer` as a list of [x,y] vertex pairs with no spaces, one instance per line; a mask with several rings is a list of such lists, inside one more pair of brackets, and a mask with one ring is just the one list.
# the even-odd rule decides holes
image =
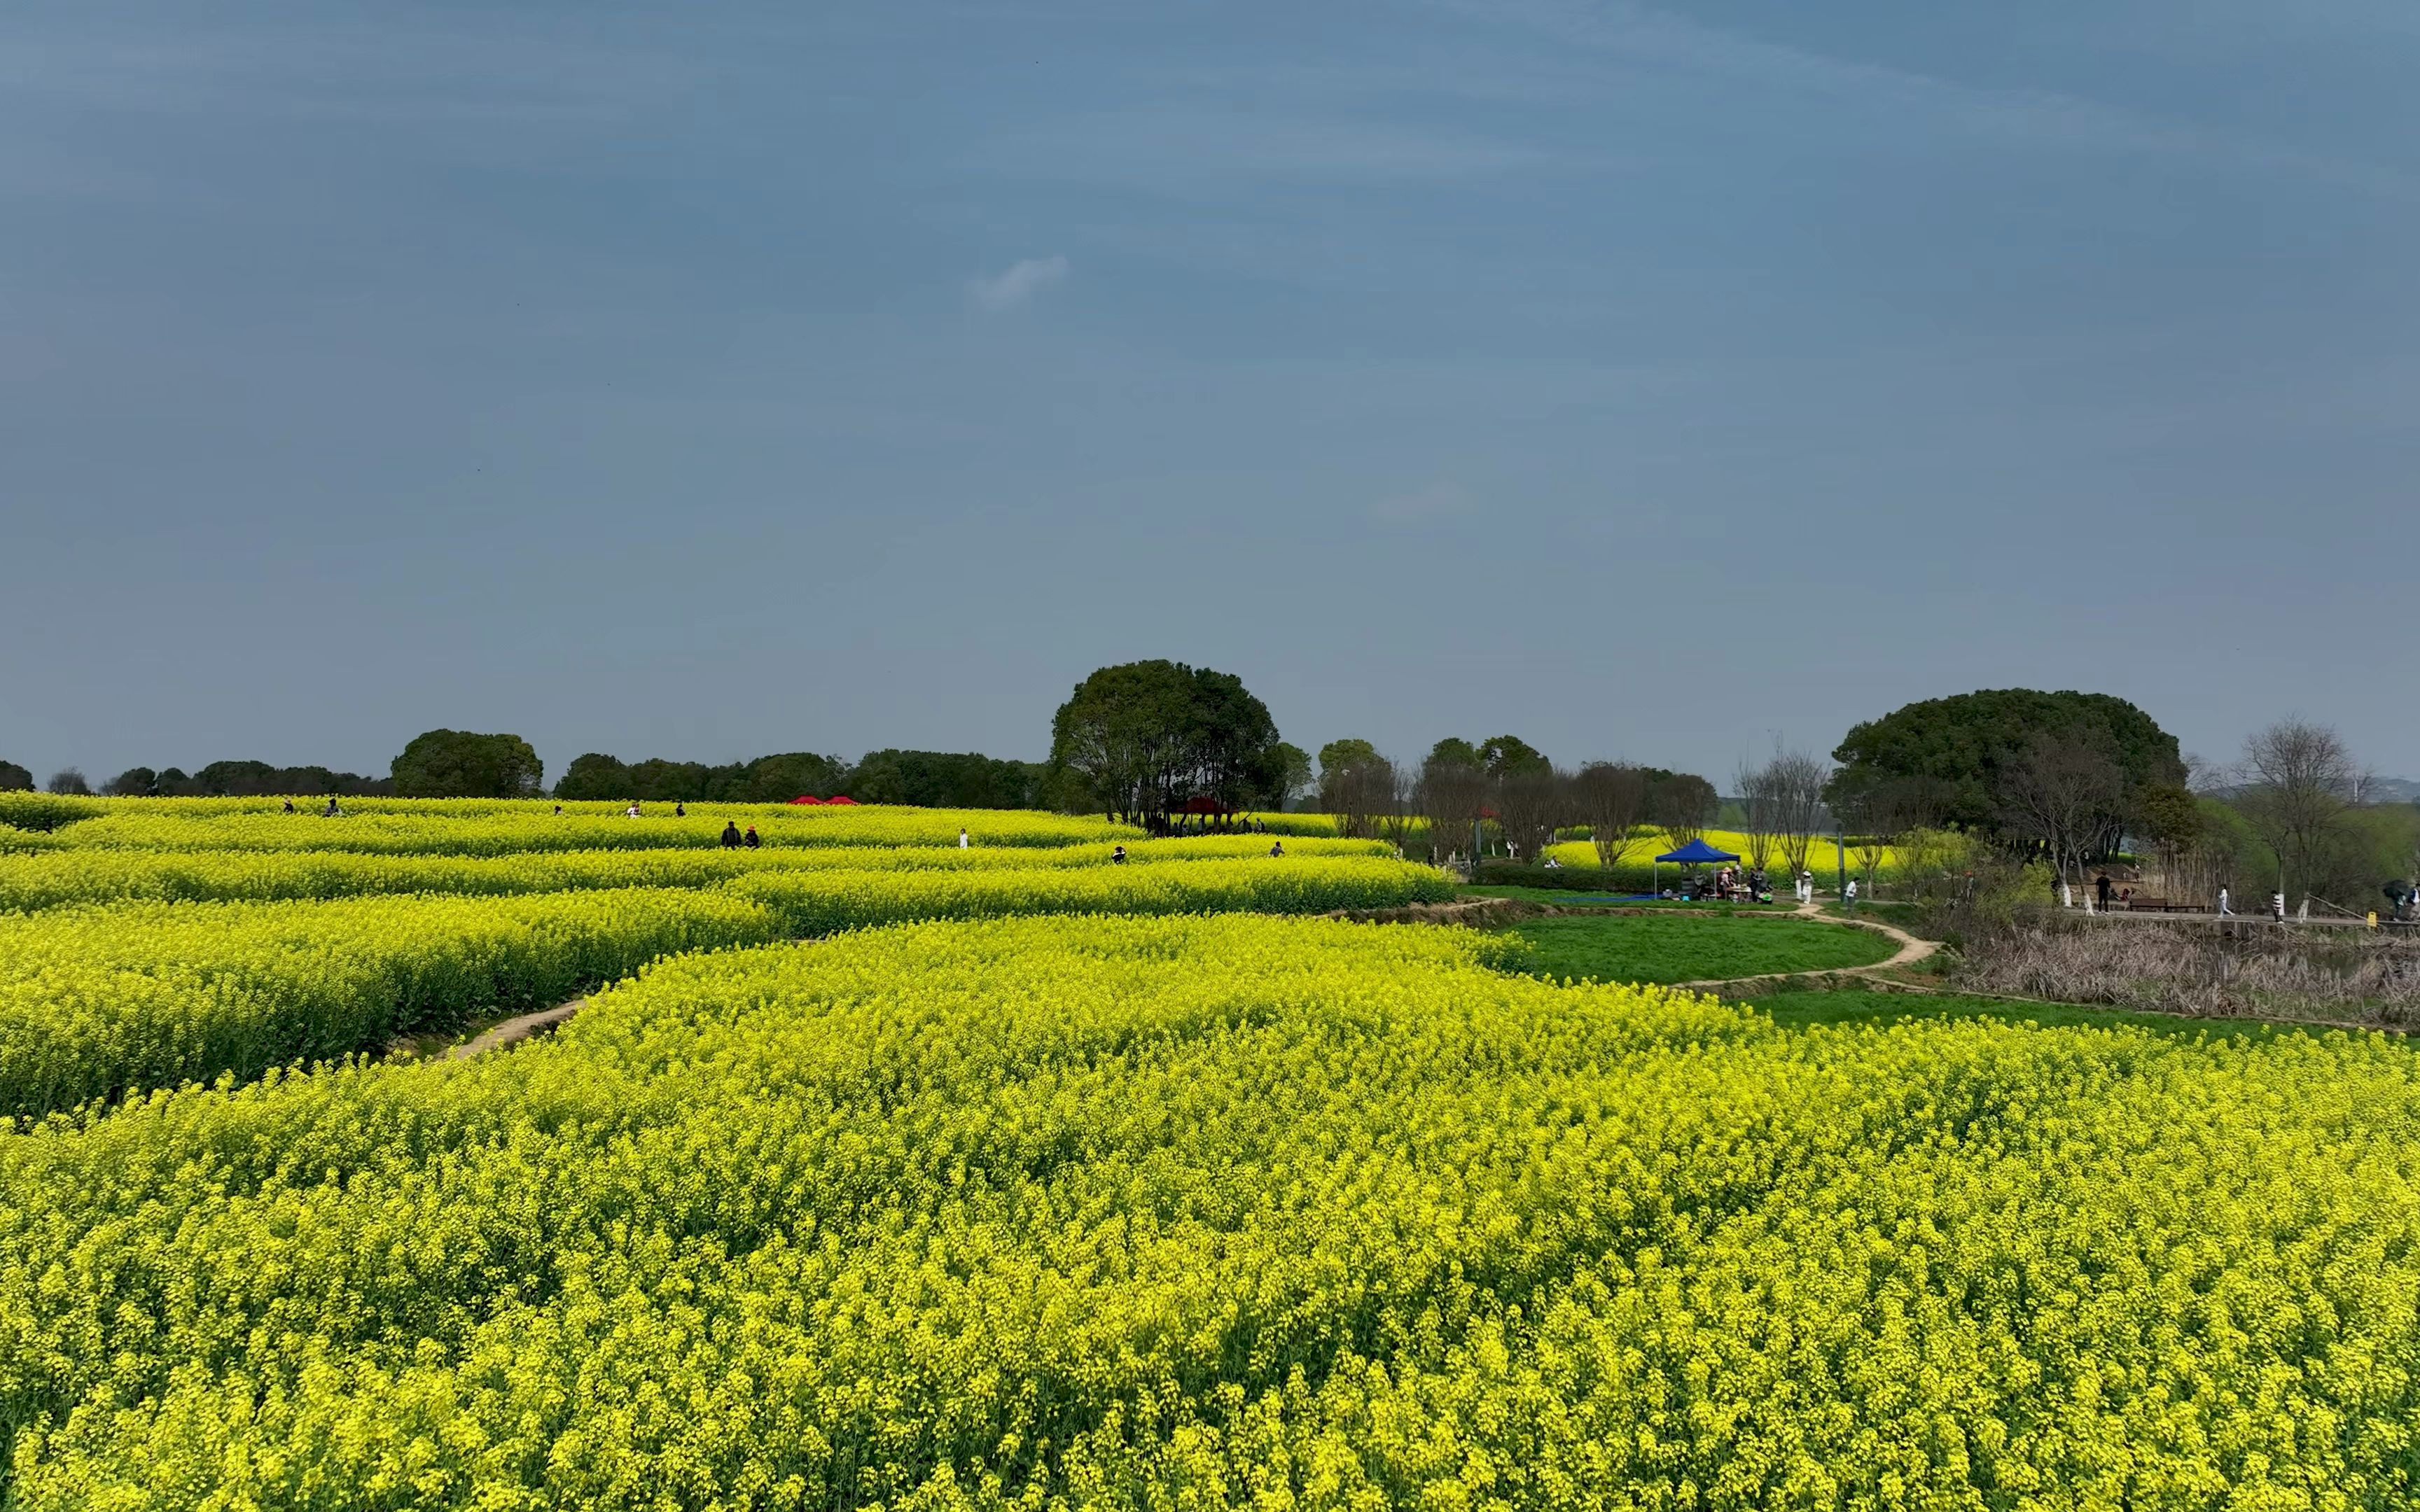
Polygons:
[[869,929],[0,1135],[0,1502],[2420,1497],[2405,1048],[1786,1031],[1486,956]]

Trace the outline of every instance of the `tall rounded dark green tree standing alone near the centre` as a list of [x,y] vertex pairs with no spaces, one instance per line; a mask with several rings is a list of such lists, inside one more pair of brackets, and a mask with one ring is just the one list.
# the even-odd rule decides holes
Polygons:
[[1241,677],[1179,660],[1101,668],[1050,719],[1050,767],[1104,813],[1164,825],[1188,798],[1239,806],[1278,781],[1278,723]]

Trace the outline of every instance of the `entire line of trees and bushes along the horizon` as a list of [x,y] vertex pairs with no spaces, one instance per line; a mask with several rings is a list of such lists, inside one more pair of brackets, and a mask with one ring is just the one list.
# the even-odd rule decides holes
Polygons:
[[[1239,677],[1176,660],[1099,668],[1050,721],[1050,760],[978,752],[779,752],[750,762],[624,762],[586,752],[557,798],[779,803],[847,793],[929,808],[1099,810],[1150,830],[1227,825],[1309,793],[1346,835],[1396,844],[1428,837],[1440,864],[1505,849],[1537,859],[1585,832],[1607,868],[1648,847],[1682,847],[1728,813],[1752,866],[1803,868],[1813,835],[1846,837],[1871,885],[1885,854],[1926,835],[1965,835],[2011,864],[2040,861],[2059,888],[2130,852],[2163,885],[2205,900],[2219,885],[2289,890],[2338,907],[2376,907],[2420,873],[2420,806],[2379,801],[2381,784],[2328,726],[2277,721],[2241,762],[2185,757],[2134,704],[2088,692],[1980,689],[1921,699],[1854,726],[1827,764],[1776,745],[1742,764],[1725,806],[1711,781],[1634,762],[1558,767],[1517,735],[1437,740],[1421,762],[1370,740],[1329,740],[1316,762],[1280,740],[1268,706]],[[34,774],[0,762],[0,789]],[[90,793],[75,767],[53,793]],[[426,731],[387,777],[329,767],[211,762],[198,772],[128,767],[102,784],[126,796],[489,796],[544,793],[544,767],[511,733]]]

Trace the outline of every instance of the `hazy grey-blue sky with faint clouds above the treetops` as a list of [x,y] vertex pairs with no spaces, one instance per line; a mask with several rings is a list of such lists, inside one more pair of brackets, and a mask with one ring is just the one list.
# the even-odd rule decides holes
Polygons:
[[1038,757],[1171,656],[1309,748],[2035,685],[2420,774],[2413,77],[2384,0],[22,0],[0,757]]

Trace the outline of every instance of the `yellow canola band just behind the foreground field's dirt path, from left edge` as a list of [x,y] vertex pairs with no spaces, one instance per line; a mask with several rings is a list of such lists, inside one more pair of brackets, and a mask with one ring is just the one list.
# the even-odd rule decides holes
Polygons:
[[0,1115],[378,1052],[399,1035],[453,1033],[564,1002],[680,951],[905,919],[1329,912],[1452,895],[1440,873],[1372,854],[1104,861],[757,868],[726,871],[724,883],[695,876],[687,881],[702,885],[692,888],[525,898],[143,900],[0,912]]

